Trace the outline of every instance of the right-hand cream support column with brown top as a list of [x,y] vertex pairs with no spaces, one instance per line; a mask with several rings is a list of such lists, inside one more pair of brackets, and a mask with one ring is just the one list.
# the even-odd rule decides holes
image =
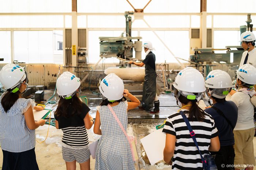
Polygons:
[[206,2],[207,0],[200,0],[200,40],[202,41],[202,48],[207,47],[207,27],[206,27]]

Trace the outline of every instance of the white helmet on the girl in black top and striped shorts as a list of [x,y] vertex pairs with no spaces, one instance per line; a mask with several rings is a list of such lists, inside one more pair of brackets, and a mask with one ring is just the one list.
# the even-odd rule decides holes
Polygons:
[[64,99],[71,99],[76,94],[76,90],[79,89],[80,83],[81,82],[78,77],[71,72],[66,71],[57,79],[57,93]]

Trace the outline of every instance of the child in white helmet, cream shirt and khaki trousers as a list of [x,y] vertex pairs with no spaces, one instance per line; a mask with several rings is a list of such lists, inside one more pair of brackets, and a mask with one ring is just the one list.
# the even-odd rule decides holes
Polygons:
[[236,78],[237,92],[230,98],[238,107],[237,124],[234,128],[236,154],[234,165],[237,167],[238,165],[250,165],[247,169],[252,170],[256,165],[253,153],[255,125],[253,122],[254,106],[250,98],[256,94],[253,87],[256,84],[256,68],[251,64],[244,64],[236,71]]

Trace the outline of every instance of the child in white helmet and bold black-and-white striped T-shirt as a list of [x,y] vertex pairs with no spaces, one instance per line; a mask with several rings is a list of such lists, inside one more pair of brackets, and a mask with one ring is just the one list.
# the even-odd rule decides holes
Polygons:
[[174,96],[181,109],[171,114],[163,127],[162,132],[166,134],[163,159],[172,165],[172,169],[198,169],[206,166],[205,159],[210,159],[209,151],[218,151],[220,148],[214,119],[197,106],[205,91],[204,78],[198,70],[185,68],[178,73],[173,86]]

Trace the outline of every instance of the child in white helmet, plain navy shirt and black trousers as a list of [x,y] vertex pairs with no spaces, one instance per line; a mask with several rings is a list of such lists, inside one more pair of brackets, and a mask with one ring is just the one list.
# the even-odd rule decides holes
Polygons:
[[[207,88],[206,94],[213,101],[210,108],[204,110],[212,116],[215,126],[219,131],[219,141],[221,149],[218,152],[211,152],[215,155],[215,163],[219,169],[234,169],[227,165],[234,165],[234,134],[233,130],[237,123],[236,104],[232,101],[226,101],[226,96],[232,88],[232,80],[227,72],[222,70],[211,71],[205,81]],[[223,166],[224,165],[224,166]]]

